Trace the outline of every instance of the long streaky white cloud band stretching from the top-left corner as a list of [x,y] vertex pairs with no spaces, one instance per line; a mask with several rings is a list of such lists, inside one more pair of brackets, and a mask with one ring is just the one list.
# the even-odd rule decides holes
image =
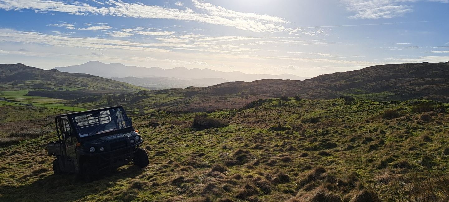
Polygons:
[[206,13],[196,13],[192,9],[172,9],[158,5],[142,3],[126,3],[123,1],[106,1],[110,7],[96,7],[77,1],[60,2],[53,0],[0,0],[0,9],[21,10],[33,9],[36,12],[63,12],[76,15],[111,15],[118,17],[174,19],[183,21],[197,21],[221,26],[231,26],[241,30],[254,32],[283,31],[282,23],[287,23],[281,17],[262,15],[257,13],[242,13],[193,0],[194,6]]

